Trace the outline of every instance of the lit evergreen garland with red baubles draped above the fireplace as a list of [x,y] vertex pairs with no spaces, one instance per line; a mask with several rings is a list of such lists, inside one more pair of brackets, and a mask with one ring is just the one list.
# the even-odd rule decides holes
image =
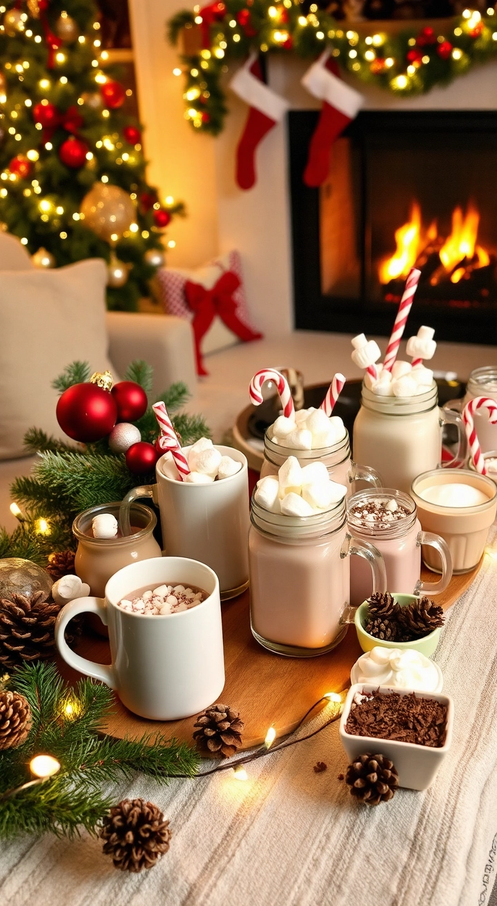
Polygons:
[[361,23],[356,31],[353,24],[337,22],[316,4],[305,14],[299,0],[223,0],[200,12],[175,14],[168,23],[170,43],[177,45],[181,34],[185,116],[196,130],[212,135],[224,128],[222,77],[227,64],[245,60],[251,52],[296,53],[312,60],[328,49],[361,82],[401,96],[447,85],[476,63],[497,57],[497,15],[492,7],[484,17],[464,10],[440,30],[411,26],[386,34],[373,23]]

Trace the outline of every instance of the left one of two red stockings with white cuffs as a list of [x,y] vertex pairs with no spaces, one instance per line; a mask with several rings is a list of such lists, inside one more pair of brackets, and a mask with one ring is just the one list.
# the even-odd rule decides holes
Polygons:
[[264,135],[282,120],[289,105],[264,84],[255,53],[238,70],[230,82],[230,88],[250,106],[236,149],[236,182],[240,188],[252,188],[255,183],[255,149]]

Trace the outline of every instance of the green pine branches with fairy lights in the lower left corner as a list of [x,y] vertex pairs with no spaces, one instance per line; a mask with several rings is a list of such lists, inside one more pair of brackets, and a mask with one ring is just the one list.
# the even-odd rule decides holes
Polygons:
[[[97,824],[113,798],[102,792],[138,772],[167,783],[170,777],[194,776],[199,757],[176,739],[146,734],[138,740],[100,737],[112,707],[112,692],[91,679],[73,689],[53,664],[28,664],[15,670],[8,687],[28,700],[33,726],[22,746],[0,752],[0,840],[18,834],[73,836]],[[51,755],[60,771],[43,784],[2,798],[30,781],[29,763]]]

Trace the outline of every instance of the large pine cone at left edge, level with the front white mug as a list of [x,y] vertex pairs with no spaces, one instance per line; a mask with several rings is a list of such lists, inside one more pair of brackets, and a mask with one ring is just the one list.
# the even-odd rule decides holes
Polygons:
[[53,628],[60,605],[45,601],[44,592],[12,595],[0,600],[0,664],[14,667],[24,660],[46,660],[55,650]]

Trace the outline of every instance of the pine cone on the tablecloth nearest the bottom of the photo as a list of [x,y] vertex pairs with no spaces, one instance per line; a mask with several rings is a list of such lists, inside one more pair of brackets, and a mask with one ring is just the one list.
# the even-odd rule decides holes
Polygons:
[[145,799],[123,799],[103,818],[100,838],[103,852],[121,872],[153,868],[169,849],[169,822],[157,805]]

